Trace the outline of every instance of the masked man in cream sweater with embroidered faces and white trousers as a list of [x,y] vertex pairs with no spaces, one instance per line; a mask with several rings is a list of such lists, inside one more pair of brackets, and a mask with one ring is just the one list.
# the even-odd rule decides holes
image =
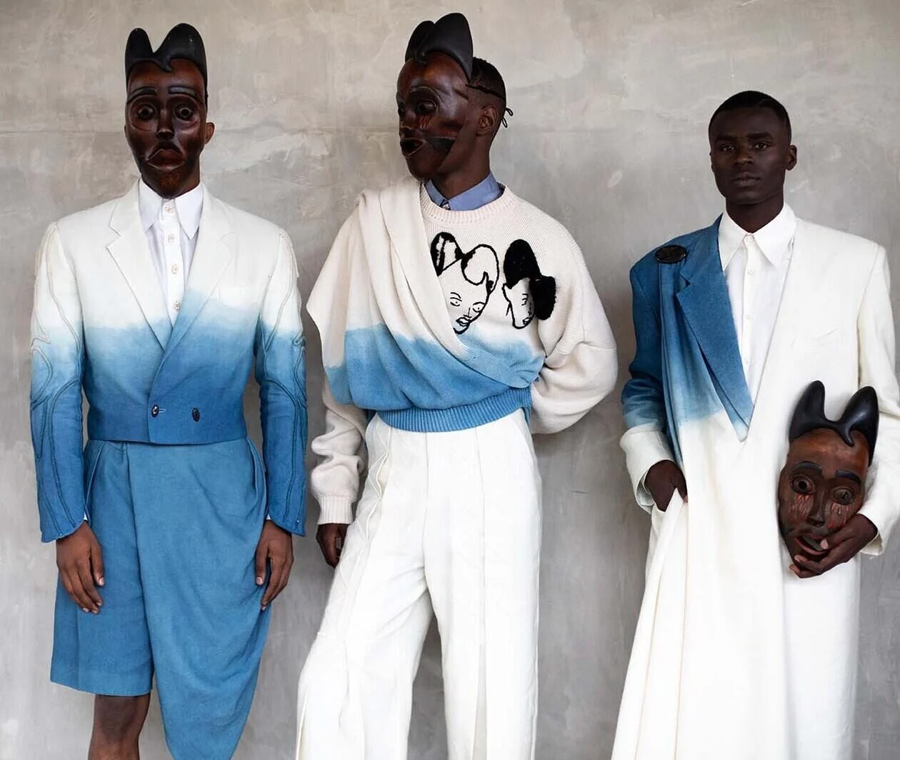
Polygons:
[[434,614],[449,756],[528,760],[541,539],[531,432],[563,430],[608,394],[616,347],[572,237],[491,174],[506,90],[473,58],[464,16],[413,32],[397,107],[413,178],[360,196],[309,302],[327,380],[311,487],[337,571],[301,675],[297,756],[406,757]]

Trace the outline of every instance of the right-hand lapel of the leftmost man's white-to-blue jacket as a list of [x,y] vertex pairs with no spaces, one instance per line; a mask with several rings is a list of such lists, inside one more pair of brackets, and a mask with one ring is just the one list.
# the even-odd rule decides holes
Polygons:
[[209,190],[205,193],[200,229],[197,231],[197,248],[193,253],[191,272],[187,276],[181,311],[172,328],[166,352],[174,350],[184,338],[184,333],[190,329],[203,306],[210,300],[236,252],[228,214]]

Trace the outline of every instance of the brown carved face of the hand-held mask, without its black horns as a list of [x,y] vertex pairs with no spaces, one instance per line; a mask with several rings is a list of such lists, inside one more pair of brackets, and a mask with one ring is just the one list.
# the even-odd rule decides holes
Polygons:
[[862,506],[869,444],[861,433],[848,446],[833,430],[818,428],[788,448],[779,476],[779,528],[790,556],[824,556],[823,538],[843,528]]

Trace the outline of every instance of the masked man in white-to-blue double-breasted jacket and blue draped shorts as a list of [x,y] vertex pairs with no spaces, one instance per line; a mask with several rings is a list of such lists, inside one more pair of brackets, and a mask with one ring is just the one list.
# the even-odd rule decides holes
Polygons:
[[[59,567],[50,677],[97,695],[90,760],[138,757],[154,677],[176,760],[226,760],[303,532],[297,269],[284,231],[200,181],[213,125],[199,32],[178,24],[152,50],[134,30],[125,77],[139,182],[51,224],[37,257],[31,432]],[[262,458],[243,415],[251,366]]]

